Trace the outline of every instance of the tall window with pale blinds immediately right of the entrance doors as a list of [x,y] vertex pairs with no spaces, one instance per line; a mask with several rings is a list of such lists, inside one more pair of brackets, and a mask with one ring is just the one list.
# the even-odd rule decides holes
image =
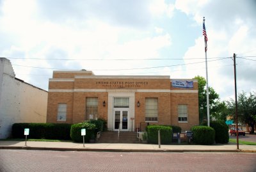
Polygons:
[[157,98],[146,98],[145,121],[157,121],[158,116]]

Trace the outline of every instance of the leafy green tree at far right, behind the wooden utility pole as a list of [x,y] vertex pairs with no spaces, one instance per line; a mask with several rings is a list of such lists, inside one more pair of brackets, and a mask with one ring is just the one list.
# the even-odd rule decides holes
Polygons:
[[[233,99],[227,101],[227,107],[233,118],[236,118],[236,102]],[[252,127],[252,132],[254,132],[254,126],[256,124],[256,93],[250,93],[246,96],[246,93],[242,91],[238,95],[237,100],[237,116],[238,120],[242,123],[247,123]]]

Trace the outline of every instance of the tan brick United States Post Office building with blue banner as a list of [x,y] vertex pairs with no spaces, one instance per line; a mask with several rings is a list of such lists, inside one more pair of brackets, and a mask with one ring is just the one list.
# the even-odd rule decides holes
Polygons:
[[198,125],[198,82],[170,76],[94,75],[54,71],[49,79],[47,122],[80,123],[103,118],[108,130],[145,125]]

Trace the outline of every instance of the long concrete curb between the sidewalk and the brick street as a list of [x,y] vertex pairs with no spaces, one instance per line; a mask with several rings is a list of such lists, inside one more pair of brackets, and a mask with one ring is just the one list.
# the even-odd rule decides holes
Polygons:
[[256,153],[256,150],[132,150],[132,149],[93,149],[93,148],[43,148],[30,146],[0,146],[0,150],[51,150],[76,152],[152,152],[152,153],[185,153],[185,152],[227,152],[227,153]]

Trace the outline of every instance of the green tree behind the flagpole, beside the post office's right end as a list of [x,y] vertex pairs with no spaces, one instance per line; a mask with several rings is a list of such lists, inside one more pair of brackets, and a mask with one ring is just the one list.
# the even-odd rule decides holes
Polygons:
[[[199,108],[199,121],[202,123],[207,119],[207,90],[206,80],[204,77],[196,76],[198,80],[198,108]],[[220,101],[220,96],[216,91],[209,87],[209,109],[210,117],[218,120],[226,120],[227,106],[225,102]]]

